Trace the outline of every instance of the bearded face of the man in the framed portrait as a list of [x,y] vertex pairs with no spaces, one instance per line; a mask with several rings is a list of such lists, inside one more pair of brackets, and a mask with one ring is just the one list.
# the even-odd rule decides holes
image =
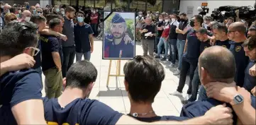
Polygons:
[[120,39],[123,37],[124,33],[126,30],[126,23],[112,23],[111,26],[111,34],[113,35],[114,38]]

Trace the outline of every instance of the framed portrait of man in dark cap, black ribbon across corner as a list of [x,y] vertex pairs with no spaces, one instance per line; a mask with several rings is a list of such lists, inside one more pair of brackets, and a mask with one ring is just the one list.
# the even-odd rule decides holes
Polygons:
[[[110,12],[104,12],[104,18]],[[102,59],[135,57],[135,13],[113,12],[104,21]]]

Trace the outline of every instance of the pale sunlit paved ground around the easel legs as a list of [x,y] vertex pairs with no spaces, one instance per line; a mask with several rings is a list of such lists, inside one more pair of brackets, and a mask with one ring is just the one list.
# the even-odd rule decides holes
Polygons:
[[[140,44],[136,44],[136,54],[143,54],[143,49]],[[130,112],[130,102],[128,95],[123,85],[123,77],[111,77],[108,88],[106,88],[106,80],[108,75],[109,60],[103,60],[102,57],[102,42],[94,42],[94,52],[91,54],[91,62],[96,66],[98,70],[98,78],[91,91],[89,98],[104,102],[106,105],[112,107],[118,112],[128,114]],[[121,73],[123,73],[123,65],[126,61],[121,61]],[[116,73],[116,61],[113,61],[111,73]],[[162,88],[155,97],[153,103],[153,109],[157,115],[175,115],[179,116],[179,112],[182,109],[183,97],[176,97],[169,95],[177,89],[179,78],[172,75],[174,69],[169,69],[168,64],[162,63],[165,67],[165,80],[162,82]],[[44,81],[43,76],[43,81]],[[188,79],[187,79],[188,82]],[[188,86],[185,85],[184,92],[187,92]],[[45,96],[45,91],[42,91]]]

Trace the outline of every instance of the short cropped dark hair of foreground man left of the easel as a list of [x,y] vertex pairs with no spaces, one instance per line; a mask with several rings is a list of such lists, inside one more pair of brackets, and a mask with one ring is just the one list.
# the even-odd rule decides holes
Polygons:
[[77,61],[67,71],[66,87],[87,88],[89,83],[96,81],[98,72],[90,61]]

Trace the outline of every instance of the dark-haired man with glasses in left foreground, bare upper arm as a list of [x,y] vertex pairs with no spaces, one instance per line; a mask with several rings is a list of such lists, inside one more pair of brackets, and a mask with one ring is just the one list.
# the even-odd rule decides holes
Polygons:
[[[6,25],[0,34],[1,62],[21,53],[30,56],[38,54],[37,30],[38,27],[29,22],[12,21]],[[23,69],[7,72],[1,76],[0,85],[1,124],[45,124],[41,100],[43,86],[37,71]]]

